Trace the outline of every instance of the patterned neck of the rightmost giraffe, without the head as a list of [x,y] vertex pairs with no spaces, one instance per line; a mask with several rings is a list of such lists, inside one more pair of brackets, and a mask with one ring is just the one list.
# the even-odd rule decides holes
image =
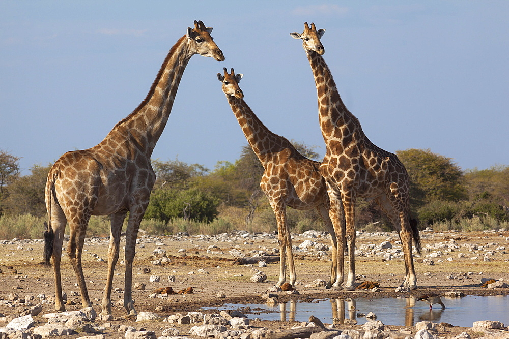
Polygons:
[[334,140],[337,147],[337,141],[340,141],[343,148],[347,148],[352,141],[364,138],[360,122],[341,100],[323,57],[314,51],[307,51],[307,58],[315,77],[320,129],[325,143],[328,145],[329,141]]

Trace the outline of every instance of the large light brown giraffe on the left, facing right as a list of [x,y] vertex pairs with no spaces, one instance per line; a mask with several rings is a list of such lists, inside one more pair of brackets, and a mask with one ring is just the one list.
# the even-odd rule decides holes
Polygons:
[[129,315],[136,315],[131,294],[132,265],[139,223],[155,180],[150,156],[166,126],[191,56],[200,54],[224,60],[210,36],[212,28],[205,27],[202,21],[194,21],[194,26],[187,28],[187,34],[169,51],[145,100],[98,145],[65,153],[49,171],[45,193],[49,225],[45,225],[44,259],[47,265],[50,259],[53,261],[58,311],[65,310],[60,262],[66,223],[69,222],[70,228],[67,254],[76,273],[83,307],[90,307],[81,267],[83,241],[91,215],[110,215],[108,274],[101,314],[111,314],[111,286],[119,258],[120,233],[129,212],[124,307]]

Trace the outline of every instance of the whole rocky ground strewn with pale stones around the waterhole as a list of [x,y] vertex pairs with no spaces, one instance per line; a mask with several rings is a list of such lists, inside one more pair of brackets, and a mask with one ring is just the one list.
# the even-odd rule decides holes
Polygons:
[[[113,307],[112,317],[109,319],[96,317],[90,321],[94,318],[94,312],[88,310],[87,315],[74,314],[74,320],[69,321],[69,324],[67,320],[72,313],[65,319],[62,315],[50,314],[54,312],[53,274],[52,270],[46,269],[42,263],[42,240],[0,240],[2,270],[0,321],[4,321],[0,326],[5,326],[0,329],[0,336],[155,338],[180,335],[200,338],[214,335],[212,332],[198,332],[209,328],[222,331],[215,334],[216,337],[254,339],[271,337],[274,333],[285,333],[284,331],[302,324],[291,321],[259,321],[256,319],[257,315],[249,314],[243,309],[230,310],[229,314],[223,312],[222,317],[210,314],[219,313],[215,311],[215,307],[219,308],[227,303],[266,303],[267,292],[275,294],[275,299],[270,299],[269,302],[276,303],[288,300],[309,301],[317,298],[416,297],[430,292],[442,296],[447,292],[465,295],[509,293],[505,283],[509,282],[508,231],[434,232],[431,229],[422,231],[422,257],[414,258],[419,286],[416,291],[396,291],[405,276],[401,242],[396,233],[357,234],[357,280],[359,283],[373,282],[379,285],[378,288],[373,289],[371,286],[369,289],[345,292],[331,291],[320,286],[320,280],[328,280],[330,274],[330,238],[325,233],[309,231],[293,235],[297,291],[280,292],[272,291],[279,274],[277,261],[269,262],[266,267],[260,267],[258,264],[239,265],[238,261],[236,262],[239,258],[276,255],[277,236],[273,234],[234,231],[231,234],[217,236],[154,237],[144,235],[143,231],[140,231],[133,274],[135,285],[133,299],[140,317],[138,319],[123,317],[126,314],[123,308],[124,272],[123,265],[119,262],[113,293],[117,301]],[[97,313],[101,311],[100,304],[107,271],[107,248],[108,238],[88,238],[84,250],[86,252],[83,253],[87,287]],[[67,258],[64,258],[62,263],[67,310],[79,311],[81,304],[74,271]],[[266,280],[263,282],[251,280],[257,270],[263,272],[259,275],[265,275]],[[483,287],[482,283],[490,278],[497,282]],[[177,294],[165,294],[170,291],[169,288]],[[186,294],[179,293],[186,290]],[[189,293],[191,290],[192,293]],[[233,311],[245,312],[248,321],[238,317],[231,319],[231,316],[236,316]],[[204,314],[207,314],[205,323],[209,325],[198,327],[204,323]],[[9,325],[13,319],[20,316],[24,316],[21,320],[29,324]],[[142,320],[142,316],[148,318]],[[480,314],[479,320],[491,319],[483,319]],[[509,337],[507,327],[502,327],[507,324],[485,324],[485,327],[464,328],[445,323],[384,326],[381,322],[378,325],[377,322],[370,322],[370,325],[361,326],[341,316],[335,319],[334,323],[332,327],[341,331],[349,330],[346,333],[353,338],[387,335],[397,338],[433,337],[433,335],[453,338],[462,332],[467,333],[463,334],[463,337],[468,335],[489,337],[495,334],[497,337]],[[330,327],[330,324],[325,325]],[[13,326],[30,328],[25,331],[9,329]],[[48,326],[52,326],[51,329]],[[58,327],[60,331],[53,330],[53,327]],[[44,329],[47,331],[43,331]]]

